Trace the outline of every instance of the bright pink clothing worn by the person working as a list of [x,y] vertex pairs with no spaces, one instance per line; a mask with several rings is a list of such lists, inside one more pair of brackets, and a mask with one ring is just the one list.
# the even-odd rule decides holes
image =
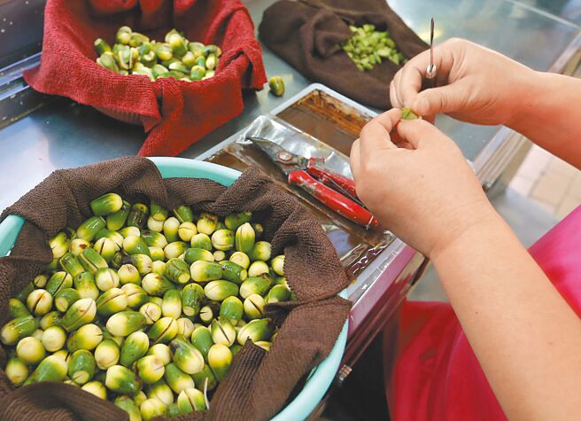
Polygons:
[[[581,207],[529,251],[581,316]],[[398,345],[394,370],[385,362],[393,421],[507,419],[449,304],[407,301]]]

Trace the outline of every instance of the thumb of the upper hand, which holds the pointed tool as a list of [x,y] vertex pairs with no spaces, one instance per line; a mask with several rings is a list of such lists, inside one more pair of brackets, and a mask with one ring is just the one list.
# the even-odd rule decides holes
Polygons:
[[414,98],[412,110],[419,115],[453,113],[466,107],[469,90],[462,82],[422,90]]

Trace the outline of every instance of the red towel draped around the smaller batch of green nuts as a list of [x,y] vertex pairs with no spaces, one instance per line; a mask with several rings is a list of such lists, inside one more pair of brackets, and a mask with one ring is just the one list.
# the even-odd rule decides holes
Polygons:
[[[113,73],[95,60],[97,37],[117,29],[163,40],[175,27],[192,41],[221,47],[216,75],[201,82]],[[43,93],[70,97],[149,132],[140,155],[176,155],[242,112],[242,90],[267,81],[260,43],[240,0],[48,0],[41,65],[24,75]]]

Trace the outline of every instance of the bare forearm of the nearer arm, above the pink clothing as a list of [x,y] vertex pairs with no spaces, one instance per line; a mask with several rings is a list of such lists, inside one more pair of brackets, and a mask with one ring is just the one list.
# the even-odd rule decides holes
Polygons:
[[500,217],[432,256],[510,419],[577,419],[581,322]]

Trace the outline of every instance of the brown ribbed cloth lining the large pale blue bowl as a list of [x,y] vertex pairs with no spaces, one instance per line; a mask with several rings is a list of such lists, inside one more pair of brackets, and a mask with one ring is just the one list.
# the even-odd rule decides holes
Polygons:
[[[347,278],[321,225],[257,168],[249,168],[229,188],[202,178],[162,179],[151,160],[140,157],[55,171],[2,214],[19,214],[27,222],[11,254],[0,259],[0,323],[8,318],[8,299],[50,262],[48,239],[67,226],[79,226],[91,215],[89,201],[108,191],[130,201],[154,200],[169,209],[187,204],[197,213],[251,211],[264,222],[273,253],[285,254],[284,271],[298,300],[269,304],[267,314],[281,327],[271,350],[244,345],[213,395],[210,410],[179,419],[273,417],[300,379],[329,355],[351,304],[336,296]],[[5,363],[6,350],[0,348],[0,368]],[[112,402],[64,383],[13,390],[0,370],[0,420],[19,419],[128,417]]]

